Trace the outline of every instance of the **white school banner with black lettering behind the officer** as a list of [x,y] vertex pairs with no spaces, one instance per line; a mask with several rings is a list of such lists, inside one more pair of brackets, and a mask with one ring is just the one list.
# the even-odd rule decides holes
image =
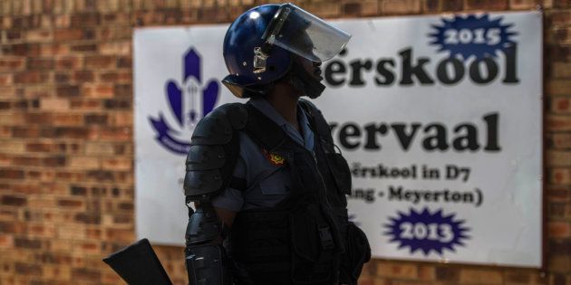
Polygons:
[[[386,259],[541,266],[541,14],[356,19],[315,100],[353,173],[350,214]],[[236,101],[227,25],[139,29],[137,233],[181,244],[191,130]]]

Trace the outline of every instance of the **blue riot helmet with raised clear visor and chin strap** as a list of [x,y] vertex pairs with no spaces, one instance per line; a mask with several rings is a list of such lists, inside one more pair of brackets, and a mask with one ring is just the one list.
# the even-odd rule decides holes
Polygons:
[[350,38],[293,4],[256,6],[227,30],[224,60],[230,74],[222,82],[237,97],[247,98],[264,94],[273,82],[295,71],[294,85],[305,86],[305,93],[315,98],[324,86],[305,76],[294,58],[324,62],[341,52]]

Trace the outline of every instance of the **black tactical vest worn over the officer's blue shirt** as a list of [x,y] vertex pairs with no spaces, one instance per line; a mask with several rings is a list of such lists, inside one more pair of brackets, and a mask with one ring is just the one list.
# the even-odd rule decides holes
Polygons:
[[242,130],[261,148],[285,157],[292,179],[284,201],[272,208],[239,212],[232,226],[227,250],[254,284],[330,285],[338,279],[351,174],[335,152],[321,112],[305,100],[300,103],[315,133],[313,152],[246,105],[248,119]]

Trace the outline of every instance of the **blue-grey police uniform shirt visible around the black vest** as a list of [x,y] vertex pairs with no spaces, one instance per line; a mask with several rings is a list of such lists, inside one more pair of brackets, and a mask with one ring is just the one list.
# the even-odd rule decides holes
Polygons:
[[[280,126],[300,146],[314,150],[314,133],[305,111],[297,105],[297,121],[301,134],[265,99],[249,100],[267,118]],[[267,208],[282,201],[290,191],[290,170],[286,163],[276,163],[245,132],[239,132],[240,154],[233,176],[244,179],[246,189],[228,187],[212,200],[215,207],[232,212]]]

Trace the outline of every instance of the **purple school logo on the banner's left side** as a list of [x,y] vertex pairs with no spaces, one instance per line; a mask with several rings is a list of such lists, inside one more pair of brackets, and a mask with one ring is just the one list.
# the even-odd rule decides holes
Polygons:
[[184,54],[182,68],[181,81],[169,80],[165,85],[168,115],[175,121],[175,126],[169,125],[162,112],[159,112],[159,118],[149,116],[149,120],[157,134],[155,139],[161,146],[173,153],[186,155],[190,147],[189,130],[214,109],[219,86],[214,79],[202,84],[200,54],[193,47]]

